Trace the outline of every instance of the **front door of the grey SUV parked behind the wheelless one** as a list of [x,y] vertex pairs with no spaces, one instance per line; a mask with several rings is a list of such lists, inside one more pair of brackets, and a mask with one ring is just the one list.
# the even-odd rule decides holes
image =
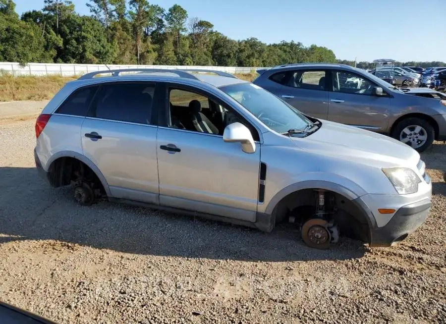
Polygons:
[[376,132],[386,132],[390,96],[373,96],[371,80],[350,71],[331,70],[328,120]]

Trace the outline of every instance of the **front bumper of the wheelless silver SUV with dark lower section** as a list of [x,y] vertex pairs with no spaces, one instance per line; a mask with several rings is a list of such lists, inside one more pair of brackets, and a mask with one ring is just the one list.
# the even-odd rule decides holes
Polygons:
[[431,207],[430,199],[401,207],[383,227],[371,230],[370,246],[390,246],[420,227]]

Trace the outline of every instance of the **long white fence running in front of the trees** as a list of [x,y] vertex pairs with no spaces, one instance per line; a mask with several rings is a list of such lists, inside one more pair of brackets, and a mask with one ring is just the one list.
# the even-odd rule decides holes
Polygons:
[[[129,68],[159,68],[159,69],[208,69],[224,71],[227,73],[250,73],[259,67],[236,67],[236,66],[180,66],[180,65],[107,65],[111,70]],[[19,63],[0,62],[0,72],[6,72],[13,76],[20,75],[82,75],[88,72],[108,70],[104,64],[55,64],[55,63]]]

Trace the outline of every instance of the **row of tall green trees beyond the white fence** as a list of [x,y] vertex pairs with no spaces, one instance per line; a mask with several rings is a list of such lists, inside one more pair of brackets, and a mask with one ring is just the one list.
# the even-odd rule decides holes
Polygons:
[[[88,0],[86,0],[88,1]],[[15,12],[0,0],[0,61],[166,65],[273,66],[335,62],[333,51],[299,42],[236,41],[178,4],[89,0],[91,15],[69,0],[45,0],[42,10]]]

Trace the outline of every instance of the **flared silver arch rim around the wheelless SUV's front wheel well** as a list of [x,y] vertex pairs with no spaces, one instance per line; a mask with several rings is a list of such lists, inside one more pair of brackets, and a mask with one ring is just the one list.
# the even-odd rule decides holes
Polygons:
[[334,173],[310,172],[301,174],[299,177],[293,178],[291,181],[293,181],[292,184],[281,189],[269,201],[265,209],[266,214],[271,215],[276,205],[279,204],[284,197],[303,189],[330,190],[352,201],[367,193],[350,179]]

